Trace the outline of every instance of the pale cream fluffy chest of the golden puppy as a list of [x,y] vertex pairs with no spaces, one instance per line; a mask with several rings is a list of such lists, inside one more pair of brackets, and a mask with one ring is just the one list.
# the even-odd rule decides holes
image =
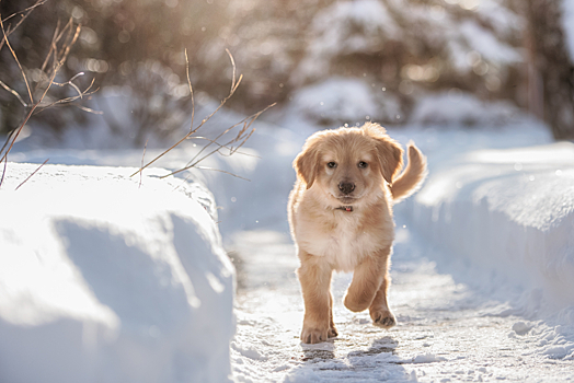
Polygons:
[[[300,245],[317,256],[324,256],[332,267],[340,271],[353,271],[361,259],[392,242],[390,233],[384,233],[379,225],[366,228],[360,217],[353,212],[336,212],[342,217],[325,220],[321,230],[303,231]],[[388,231],[387,230],[387,231]],[[390,234],[390,239],[386,239]]]

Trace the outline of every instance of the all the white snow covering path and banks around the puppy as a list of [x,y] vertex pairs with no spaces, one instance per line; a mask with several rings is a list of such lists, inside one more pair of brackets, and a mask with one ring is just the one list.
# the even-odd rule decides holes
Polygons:
[[[383,332],[367,313],[345,310],[352,276],[341,274],[333,280],[340,336],[313,346],[299,340],[302,300],[285,209],[292,159],[317,127],[294,105],[272,115],[283,127],[255,124],[248,155],[206,163],[251,182],[206,171],[185,174],[190,182],[159,179],[165,171],[152,170],[139,188],[139,177],[127,177],[133,169],[46,165],[10,192],[36,165],[9,163],[0,198],[18,204],[0,217],[1,246],[22,256],[2,262],[31,274],[13,278],[0,265],[0,287],[13,285],[11,295],[0,293],[0,307],[10,307],[0,310],[0,363],[12,370],[0,371],[21,381],[42,373],[48,382],[89,381],[94,371],[124,382],[191,373],[225,381],[230,372],[237,382],[572,379],[574,146],[553,142],[546,127],[514,111],[504,119],[497,105],[460,100],[471,107],[459,106],[449,127],[448,118],[418,118],[389,129],[403,144],[413,139],[431,167],[425,186],[394,209],[389,299],[398,326]],[[449,116],[452,108],[445,102],[434,111]],[[472,128],[461,126],[467,114],[478,118]],[[220,126],[237,119],[225,111],[220,117]],[[159,166],[181,167],[194,149],[186,143]],[[141,151],[28,148],[11,155],[46,158],[134,166]],[[23,211],[36,218],[11,218]],[[236,295],[214,221],[237,269]],[[41,252],[44,263],[34,255]],[[162,285],[167,276],[171,282]],[[51,292],[61,289],[74,300]],[[197,332],[196,320],[207,329]],[[51,352],[59,338],[61,352]]]

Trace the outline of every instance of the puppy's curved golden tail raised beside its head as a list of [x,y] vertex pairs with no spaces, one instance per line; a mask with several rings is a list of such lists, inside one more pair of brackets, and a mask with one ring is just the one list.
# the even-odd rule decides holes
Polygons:
[[400,202],[418,190],[426,174],[426,158],[414,146],[414,142],[409,142],[409,163],[401,175],[393,179],[392,185],[390,185],[393,201]]

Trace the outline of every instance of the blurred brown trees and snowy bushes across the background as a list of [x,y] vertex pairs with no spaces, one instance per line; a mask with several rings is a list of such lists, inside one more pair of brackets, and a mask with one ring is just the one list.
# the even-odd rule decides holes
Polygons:
[[[0,12],[34,2],[2,0]],[[150,134],[169,137],[191,111],[184,49],[200,103],[227,95],[228,48],[244,74],[228,105],[244,114],[279,102],[326,126],[445,124],[434,105],[467,100],[469,109],[494,105],[491,123],[520,107],[544,118],[556,138],[573,139],[567,15],[554,0],[48,0],[10,42],[34,81],[58,21],[82,25],[60,81],[95,78],[100,91],[87,102],[104,114],[68,107],[35,116],[35,125],[60,134],[97,118],[136,146]],[[25,94],[20,79],[3,48],[0,80]],[[23,106],[3,90],[0,104],[7,132]],[[478,113],[458,123],[483,121]]]

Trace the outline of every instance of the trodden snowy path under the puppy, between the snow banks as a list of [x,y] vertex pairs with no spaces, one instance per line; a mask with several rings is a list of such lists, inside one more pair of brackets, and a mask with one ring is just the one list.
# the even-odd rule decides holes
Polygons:
[[[506,302],[439,274],[426,257],[432,251],[403,228],[401,217],[397,223],[390,304],[399,325],[382,330],[370,324],[367,312],[347,311],[341,299],[351,275],[336,275],[334,316],[340,336],[314,346],[301,345],[298,338],[302,300],[290,240],[276,232],[238,234],[232,246],[240,283],[231,345],[236,380],[574,381],[572,360],[537,352],[544,334],[531,336],[530,323],[508,315]],[[556,336],[554,329],[547,330],[549,337]]]

